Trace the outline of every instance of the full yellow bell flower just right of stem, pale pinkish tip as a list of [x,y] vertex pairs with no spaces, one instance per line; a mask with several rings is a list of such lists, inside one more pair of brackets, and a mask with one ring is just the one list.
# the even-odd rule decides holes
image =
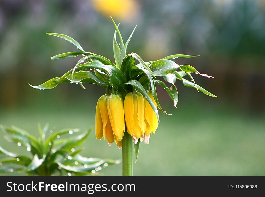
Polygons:
[[126,94],[124,100],[124,115],[127,132],[132,136],[133,142],[137,144],[138,139],[145,133],[144,121],[145,100],[139,92]]

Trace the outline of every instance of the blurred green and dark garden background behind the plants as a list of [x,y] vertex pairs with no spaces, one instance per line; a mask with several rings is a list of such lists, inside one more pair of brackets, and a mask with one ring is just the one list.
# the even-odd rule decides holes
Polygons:
[[[201,55],[177,59],[208,79],[195,81],[218,98],[182,87],[178,108],[162,88],[158,96],[171,116],[160,124],[149,145],[141,144],[134,175],[265,175],[265,1],[264,0],[1,0],[0,124],[15,125],[37,136],[37,123],[51,129],[86,130],[95,122],[96,85],[60,84],[52,90],[31,88],[70,70],[78,58],[51,61],[76,48],[45,32],[67,34],[85,51],[112,61],[114,26],[126,40],[136,31],[127,53],[145,61],[171,54]],[[0,133],[0,145],[18,153]],[[121,158],[115,145],[85,143],[87,157]],[[121,175],[121,164],[103,175]],[[17,175],[10,173],[8,175]],[[22,174],[21,174],[22,175]]]

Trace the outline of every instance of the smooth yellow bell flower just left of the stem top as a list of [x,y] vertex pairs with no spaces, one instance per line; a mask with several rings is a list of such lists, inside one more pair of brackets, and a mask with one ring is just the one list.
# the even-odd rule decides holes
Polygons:
[[120,142],[125,131],[122,97],[119,94],[111,94],[107,99],[107,108],[114,138]]

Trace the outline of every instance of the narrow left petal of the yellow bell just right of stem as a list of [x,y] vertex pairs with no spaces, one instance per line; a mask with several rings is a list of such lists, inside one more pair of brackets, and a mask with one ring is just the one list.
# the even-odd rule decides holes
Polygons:
[[129,92],[128,94],[126,94],[124,99],[124,116],[127,132],[130,134],[130,136],[133,136],[133,113],[133,93]]

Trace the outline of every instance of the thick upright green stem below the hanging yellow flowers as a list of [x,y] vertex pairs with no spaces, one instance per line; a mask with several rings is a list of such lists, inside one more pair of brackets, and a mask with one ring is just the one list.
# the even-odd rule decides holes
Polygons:
[[122,140],[122,175],[133,176],[133,140],[126,126]]

